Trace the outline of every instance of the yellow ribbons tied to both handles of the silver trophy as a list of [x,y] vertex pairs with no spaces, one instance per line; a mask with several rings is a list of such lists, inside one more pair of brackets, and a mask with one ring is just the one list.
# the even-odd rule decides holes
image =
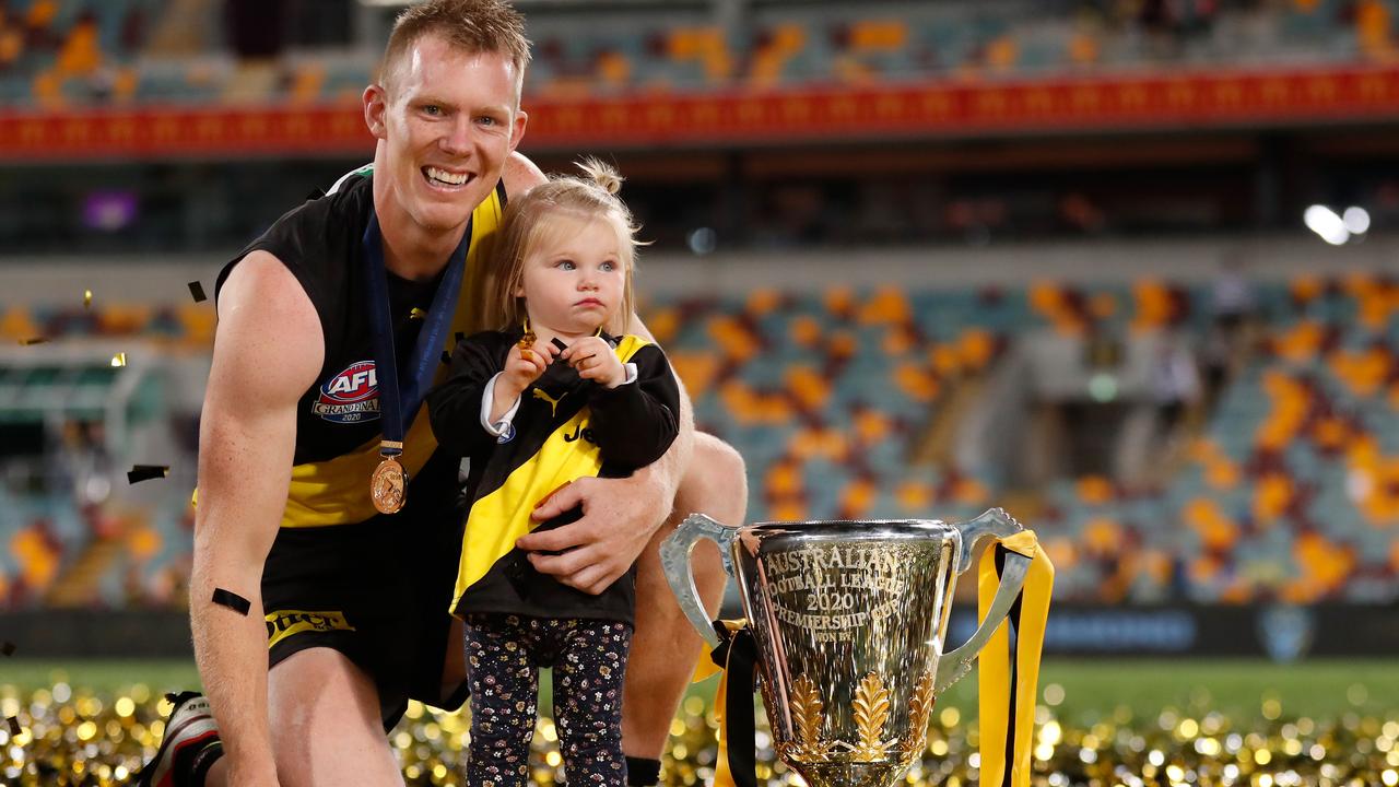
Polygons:
[[[1045,620],[1053,591],[1053,564],[1039,548],[1034,531],[1021,531],[986,549],[977,566],[978,619],[985,618],[990,599],[1000,588],[1000,567],[1006,552],[1030,557],[1030,573],[1010,618],[1000,625],[981,651],[978,695],[981,714],[981,780],[983,787],[1030,787],[1034,749],[1035,697],[1039,688],[1039,655],[1044,648]],[[747,620],[722,620],[736,633]],[[1009,626],[1007,626],[1009,625]],[[1011,630],[1014,637],[1010,636]],[[719,674],[713,696],[713,714],[719,725],[719,753],[713,787],[737,787],[729,770],[726,702],[729,674],[702,654],[694,682]],[[1011,668],[1014,664],[1014,668]],[[1009,741],[1009,745],[1007,745]]]

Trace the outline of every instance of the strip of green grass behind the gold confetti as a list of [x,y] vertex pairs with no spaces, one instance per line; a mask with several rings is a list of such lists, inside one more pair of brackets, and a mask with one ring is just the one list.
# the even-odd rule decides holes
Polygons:
[[[1062,718],[1093,723],[1126,707],[1137,718],[1163,709],[1216,710],[1248,721],[1267,713],[1283,717],[1337,718],[1356,710],[1392,714],[1399,710],[1399,660],[1309,661],[1294,665],[1265,661],[1090,661],[1048,660],[1041,667],[1039,700],[1062,700]],[[0,661],[0,690],[29,692],[57,681],[73,689],[115,693],[144,683],[151,693],[193,689],[199,674],[190,661]],[[691,689],[708,702],[713,681]],[[1053,689],[1058,686],[1058,689]],[[547,692],[547,682],[544,685]],[[1048,693],[1048,696],[1046,696]],[[541,707],[548,707],[547,693]],[[1269,704],[1265,713],[1265,704]],[[953,686],[939,707],[975,713],[977,675]]]

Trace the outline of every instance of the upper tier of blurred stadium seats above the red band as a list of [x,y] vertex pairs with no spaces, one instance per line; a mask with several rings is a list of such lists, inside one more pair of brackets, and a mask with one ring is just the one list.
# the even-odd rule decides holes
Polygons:
[[[670,92],[1219,63],[1391,62],[1386,0],[522,3],[527,90]],[[402,7],[357,0],[7,0],[0,98],[357,102]]]

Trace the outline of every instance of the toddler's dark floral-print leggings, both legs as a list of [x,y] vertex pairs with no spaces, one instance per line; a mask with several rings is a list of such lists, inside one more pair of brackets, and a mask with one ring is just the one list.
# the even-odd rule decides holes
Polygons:
[[621,688],[631,625],[616,620],[469,615],[471,752],[466,783],[530,783],[529,744],[539,703],[539,668],[554,668],[554,725],[571,787],[625,784]]

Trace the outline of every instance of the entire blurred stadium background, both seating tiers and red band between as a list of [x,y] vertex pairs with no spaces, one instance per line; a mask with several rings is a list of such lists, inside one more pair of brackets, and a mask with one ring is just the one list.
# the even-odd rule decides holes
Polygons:
[[[1003,506],[1059,599],[1399,601],[1392,3],[518,4],[541,109],[522,150],[628,176],[642,315],[744,455],[751,521]],[[0,608],[183,602],[214,332],[187,283],[211,294],[372,151],[238,129],[267,108],[353,126],[400,8],[0,0],[0,139],[27,146],[0,146]],[[1146,92],[1104,115],[1114,80]],[[965,125],[866,123],[890,85],[965,88]],[[816,94],[855,116],[597,130],[638,101],[740,118]],[[94,153],[113,111],[176,147],[189,111],[200,139],[235,129]]]

